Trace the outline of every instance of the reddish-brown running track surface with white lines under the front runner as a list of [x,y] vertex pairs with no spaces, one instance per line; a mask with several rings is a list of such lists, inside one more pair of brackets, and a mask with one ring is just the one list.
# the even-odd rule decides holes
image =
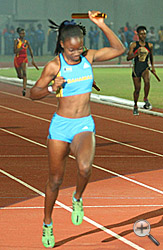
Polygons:
[[[97,103],[91,106],[97,146],[92,177],[83,196],[86,221],[80,226],[71,223],[68,210],[76,172],[70,157],[58,197],[61,204],[53,214],[56,247],[161,250],[163,119],[146,114],[135,117],[132,111]],[[46,137],[55,110],[53,95],[33,102],[28,93],[27,98],[21,96],[19,87],[0,83],[0,206],[4,207],[0,210],[0,250],[44,249]],[[159,248],[148,237],[133,232],[140,219],[150,222]]]

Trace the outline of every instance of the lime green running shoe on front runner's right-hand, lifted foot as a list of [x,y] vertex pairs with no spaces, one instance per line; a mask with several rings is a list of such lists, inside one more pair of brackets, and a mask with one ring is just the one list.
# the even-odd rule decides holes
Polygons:
[[80,198],[79,201],[76,201],[74,199],[74,194],[72,197],[72,206],[73,206],[73,211],[71,214],[71,220],[74,225],[80,225],[83,221],[83,216],[84,216],[84,211],[83,211],[83,201],[82,198]]

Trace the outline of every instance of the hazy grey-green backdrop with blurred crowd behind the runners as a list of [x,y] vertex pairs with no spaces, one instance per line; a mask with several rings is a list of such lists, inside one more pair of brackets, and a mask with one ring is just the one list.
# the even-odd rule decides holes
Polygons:
[[[125,43],[137,40],[136,27],[145,25],[154,54],[163,55],[163,0],[0,0],[0,55],[13,55],[16,29],[26,31],[35,56],[53,55],[57,33],[48,27],[48,18],[60,24],[73,12],[99,10],[108,15],[106,23]],[[101,31],[90,20],[76,19],[86,26],[85,46],[107,46]]]

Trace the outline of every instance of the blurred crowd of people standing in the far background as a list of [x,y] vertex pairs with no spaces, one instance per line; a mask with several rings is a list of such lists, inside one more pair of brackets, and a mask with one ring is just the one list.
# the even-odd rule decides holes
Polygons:
[[[21,28],[23,25],[20,26]],[[132,27],[129,22],[126,22],[124,27],[120,27],[118,30],[118,37],[122,41],[122,43],[126,47],[126,51],[129,48],[129,44],[132,41],[137,41],[137,29],[138,25],[136,24]],[[111,27],[112,28],[112,27]],[[18,37],[18,33],[16,32],[17,27],[9,26],[8,24],[6,27],[0,31],[0,54],[5,55],[13,55],[13,44],[14,39]],[[147,42],[153,44],[154,47],[154,55],[163,55],[163,26],[160,26],[158,30],[155,27],[147,27]],[[33,53],[35,56],[43,56],[44,54],[44,44],[45,39],[47,39],[47,51],[51,55],[54,55],[54,49],[56,46],[56,37],[57,32],[49,29],[47,34],[42,29],[42,24],[38,24],[37,28],[34,27],[33,24],[29,24],[28,28],[25,28],[26,31],[26,39],[30,42],[31,47],[33,49]],[[99,41],[100,37],[103,42],[103,46],[109,46],[108,40],[106,39],[105,35],[96,27],[91,26],[90,29],[87,31],[87,39],[89,41],[89,48],[90,49],[99,49]],[[2,53],[2,39],[4,42],[4,53]]]

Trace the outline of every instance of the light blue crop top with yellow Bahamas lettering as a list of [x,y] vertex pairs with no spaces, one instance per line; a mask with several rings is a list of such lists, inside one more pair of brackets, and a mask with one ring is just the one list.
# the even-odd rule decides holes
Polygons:
[[66,82],[56,92],[56,97],[65,97],[84,94],[92,91],[93,71],[88,60],[81,55],[81,62],[75,65],[68,64],[62,53],[60,57],[60,71],[57,76],[65,78]]

